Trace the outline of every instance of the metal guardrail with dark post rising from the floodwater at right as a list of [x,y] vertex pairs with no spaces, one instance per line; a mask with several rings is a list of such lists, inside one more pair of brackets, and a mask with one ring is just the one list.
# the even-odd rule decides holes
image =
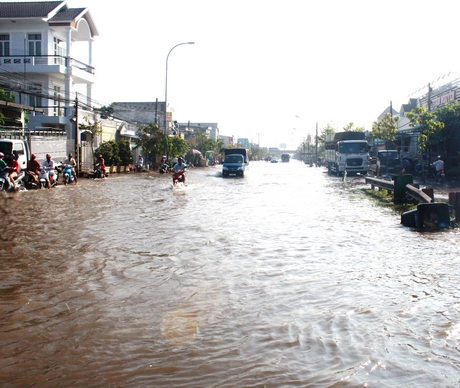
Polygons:
[[433,198],[426,194],[423,190],[415,187],[412,183],[406,182],[412,181],[412,175],[395,175],[393,179],[396,179],[396,185],[394,180],[389,181],[385,179],[365,177],[366,183],[371,185],[372,190],[374,190],[375,187],[378,187],[379,189],[385,189],[393,192],[395,203],[403,202],[406,195],[414,198],[419,203],[434,202]]

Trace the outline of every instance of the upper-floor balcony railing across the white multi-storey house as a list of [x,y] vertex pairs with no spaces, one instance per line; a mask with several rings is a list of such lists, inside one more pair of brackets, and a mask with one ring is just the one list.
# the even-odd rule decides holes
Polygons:
[[[75,67],[87,73],[94,74],[94,67],[80,62],[73,58],[63,57],[60,55],[10,55],[0,57],[0,68],[2,66],[52,66],[62,65],[65,67]],[[22,70],[22,69],[21,69]]]

